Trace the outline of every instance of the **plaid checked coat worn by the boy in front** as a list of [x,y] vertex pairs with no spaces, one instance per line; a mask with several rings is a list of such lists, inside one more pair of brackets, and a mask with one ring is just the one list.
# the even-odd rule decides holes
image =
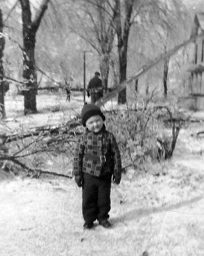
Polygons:
[[[106,162],[101,163],[101,161],[85,157],[84,154],[106,156]],[[113,134],[106,131],[105,125],[98,133],[86,129],[77,141],[73,161],[73,175],[85,172],[96,177],[108,174],[120,177],[121,170],[120,152]]]

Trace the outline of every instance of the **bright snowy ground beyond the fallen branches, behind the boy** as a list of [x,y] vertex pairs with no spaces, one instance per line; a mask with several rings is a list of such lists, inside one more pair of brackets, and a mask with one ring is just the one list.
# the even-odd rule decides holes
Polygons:
[[[90,98],[86,101],[90,103]],[[110,109],[117,102],[111,101],[105,104],[103,109]],[[82,92],[73,92],[70,102],[66,102],[66,93],[40,94],[36,96],[38,115],[24,116],[24,97],[22,95],[5,97],[6,120],[2,129],[7,133],[16,132],[18,129],[29,129],[43,125],[64,124],[70,118],[80,114],[84,106]],[[1,126],[0,124],[0,132]]]

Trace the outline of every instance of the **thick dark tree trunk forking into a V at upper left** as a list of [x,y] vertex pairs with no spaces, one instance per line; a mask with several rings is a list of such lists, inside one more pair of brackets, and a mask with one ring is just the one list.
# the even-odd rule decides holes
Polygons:
[[37,76],[35,70],[34,49],[36,44],[36,32],[40,26],[41,19],[47,10],[50,0],[42,0],[36,10],[36,15],[31,20],[31,6],[29,0],[19,0],[22,8],[22,33],[24,42],[24,71],[23,77],[26,84],[24,90],[24,113],[36,113],[36,91],[30,90],[37,87]]

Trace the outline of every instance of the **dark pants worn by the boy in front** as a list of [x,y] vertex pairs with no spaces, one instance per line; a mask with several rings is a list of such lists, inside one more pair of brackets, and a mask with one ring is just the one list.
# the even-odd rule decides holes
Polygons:
[[84,220],[92,222],[109,218],[111,175],[94,177],[84,173],[82,213]]

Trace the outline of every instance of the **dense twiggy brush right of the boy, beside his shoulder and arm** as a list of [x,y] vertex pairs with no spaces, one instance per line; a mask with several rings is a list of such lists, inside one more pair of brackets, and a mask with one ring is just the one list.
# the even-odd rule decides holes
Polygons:
[[[174,115],[177,115],[176,111]],[[168,119],[172,122],[165,124],[164,120]],[[177,140],[180,129],[173,123],[168,108],[156,106],[145,106],[143,109],[127,107],[108,112],[106,126],[116,137],[123,165],[131,163],[142,169],[147,162],[172,156],[173,141]],[[172,136],[171,130],[175,136]]]

